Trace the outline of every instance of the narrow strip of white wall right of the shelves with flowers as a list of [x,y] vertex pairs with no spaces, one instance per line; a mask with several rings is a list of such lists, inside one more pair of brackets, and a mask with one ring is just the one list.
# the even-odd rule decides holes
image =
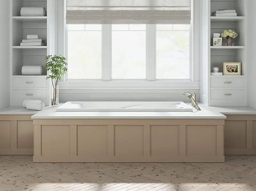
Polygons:
[[256,1],[248,0],[248,106],[256,108]]

